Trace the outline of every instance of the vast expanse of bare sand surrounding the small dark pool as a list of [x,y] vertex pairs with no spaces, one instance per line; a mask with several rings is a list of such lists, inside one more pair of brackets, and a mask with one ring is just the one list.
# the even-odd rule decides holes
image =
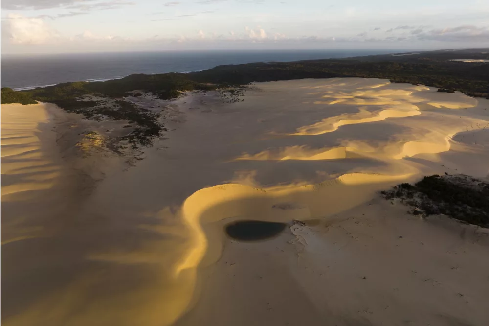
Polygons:
[[[486,177],[489,101],[359,78],[258,83],[232,104],[214,94],[174,101],[182,115],[167,123],[168,139],[126,171],[100,153],[75,160],[81,165],[57,161],[64,152],[48,138],[22,144],[57,162],[49,163],[60,174],[46,196],[74,198],[76,209],[60,209],[65,223],[43,236],[29,233],[32,223],[18,213],[8,216],[17,229],[2,220],[2,241],[20,230],[2,246],[11,266],[4,295],[14,298],[2,306],[5,325],[489,320],[484,230],[420,220],[376,196],[426,174]],[[4,111],[2,179],[3,122],[26,116],[5,120]],[[52,123],[39,115],[25,129]],[[67,130],[52,133],[54,140]],[[53,192],[70,185],[63,173],[79,175],[65,172],[73,166],[98,176],[84,197],[76,196],[78,179],[73,195]],[[241,219],[290,228],[264,242],[227,239],[224,225]]]

